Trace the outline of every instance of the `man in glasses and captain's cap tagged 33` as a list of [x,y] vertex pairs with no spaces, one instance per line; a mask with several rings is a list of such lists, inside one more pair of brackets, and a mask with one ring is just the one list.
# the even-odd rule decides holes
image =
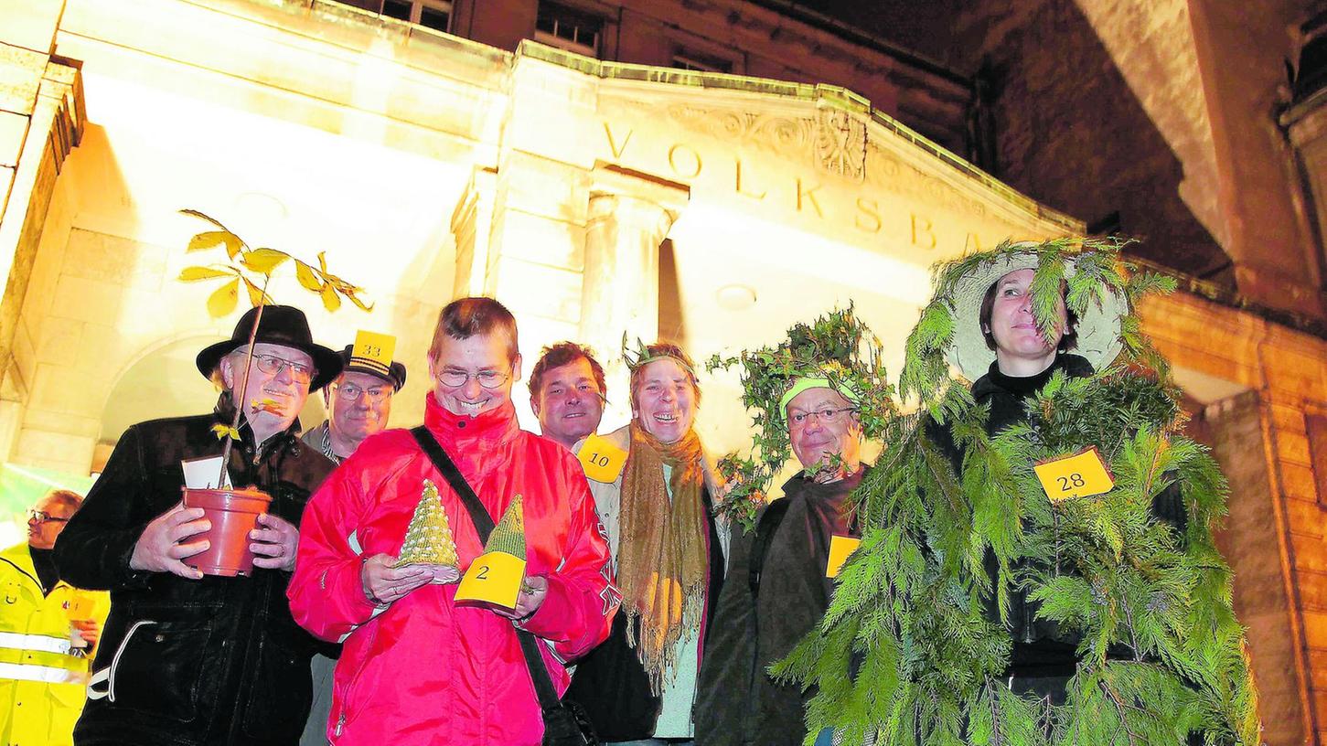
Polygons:
[[344,368],[336,381],[322,389],[328,418],[304,434],[304,442],[336,463],[349,458],[369,435],[387,427],[391,396],[406,385],[406,366],[354,354],[354,345],[341,350]]

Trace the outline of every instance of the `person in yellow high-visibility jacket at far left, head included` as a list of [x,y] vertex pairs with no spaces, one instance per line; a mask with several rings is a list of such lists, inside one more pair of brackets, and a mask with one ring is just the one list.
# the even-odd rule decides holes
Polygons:
[[28,543],[0,552],[0,746],[73,743],[110,595],[60,580],[52,548],[77,492],[57,490],[28,511]]

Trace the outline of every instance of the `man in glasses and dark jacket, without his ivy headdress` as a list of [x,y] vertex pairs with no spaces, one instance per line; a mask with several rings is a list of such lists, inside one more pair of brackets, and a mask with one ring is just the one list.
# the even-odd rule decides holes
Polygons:
[[825,378],[798,378],[780,413],[804,471],[760,511],[756,531],[733,540],[695,706],[697,746],[795,746],[805,738],[804,696],[778,684],[782,660],[824,615],[851,526],[848,495],[861,482],[856,394]]

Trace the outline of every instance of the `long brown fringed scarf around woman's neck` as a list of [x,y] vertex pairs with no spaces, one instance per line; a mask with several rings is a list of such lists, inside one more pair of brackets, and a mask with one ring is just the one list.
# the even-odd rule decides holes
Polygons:
[[[664,487],[664,465],[673,499]],[[705,454],[695,430],[675,443],[661,443],[632,423],[632,449],[622,475],[621,539],[617,585],[628,640],[658,696],[673,669],[682,631],[695,627],[705,608],[709,564],[706,546]],[[636,642],[640,633],[640,641]]]

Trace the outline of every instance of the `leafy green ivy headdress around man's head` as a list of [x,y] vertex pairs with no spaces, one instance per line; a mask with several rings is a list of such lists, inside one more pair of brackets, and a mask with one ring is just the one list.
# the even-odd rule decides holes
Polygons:
[[[878,438],[897,411],[893,386],[885,380],[880,338],[863,323],[852,304],[833,309],[812,324],[798,323],[787,340],[774,346],[743,350],[706,361],[710,372],[738,368],[742,404],[754,410],[755,435],[748,455],[730,453],[719,459],[719,475],[729,491],[717,512],[727,514],[747,531],[767,502],[770,482],[788,461],[788,423],[779,401],[798,378],[827,378],[833,388],[857,394],[863,435]],[[815,467],[807,470],[813,473]]]

